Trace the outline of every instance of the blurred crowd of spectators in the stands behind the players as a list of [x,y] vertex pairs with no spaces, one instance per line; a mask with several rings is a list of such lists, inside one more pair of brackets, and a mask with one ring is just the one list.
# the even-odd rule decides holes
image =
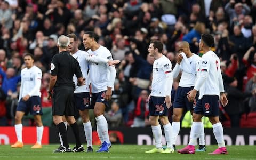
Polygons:
[[[147,97],[154,62],[148,56],[149,42],[159,39],[174,67],[180,41],[202,55],[198,44],[203,33],[214,35],[212,50],[221,59],[229,99],[225,108],[220,106],[222,121],[239,122],[241,115],[256,113],[255,20],[256,0],[0,0],[0,125],[13,125],[22,56],[34,54],[35,65],[42,69],[42,106],[51,115],[47,88],[57,38],[75,33],[84,50],[81,39],[88,30],[100,36],[99,44],[113,59],[121,60],[106,113],[111,127],[149,124]],[[178,84],[174,79],[172,100]],[[49,121],[43,116],[44,124]]]

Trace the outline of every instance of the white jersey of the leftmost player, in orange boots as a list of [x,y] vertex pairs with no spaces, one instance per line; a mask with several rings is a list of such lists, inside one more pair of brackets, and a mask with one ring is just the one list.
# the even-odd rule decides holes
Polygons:
[[22,97],[39,96],[41,97],[40,87],[42,82],[42,71],[36,66],[31,68],[24,68],[21,70],[21,86],[19,101]]

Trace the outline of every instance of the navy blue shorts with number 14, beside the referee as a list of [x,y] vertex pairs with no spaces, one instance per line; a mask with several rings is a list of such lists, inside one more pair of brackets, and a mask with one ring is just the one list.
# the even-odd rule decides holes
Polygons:
[[90,93],[74,93],[74,106],[78,110],[93,109],[90,104]]

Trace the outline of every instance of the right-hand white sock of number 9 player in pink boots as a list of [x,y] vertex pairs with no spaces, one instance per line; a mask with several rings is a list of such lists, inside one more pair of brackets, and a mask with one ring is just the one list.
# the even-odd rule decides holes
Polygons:
[[218,146],[225,147],[225,141],[224,141],[224,133],[223,133],[223,127],[221,123],[215,123],[212,125],[213,133],[215,135],[215,139],[217,140]]

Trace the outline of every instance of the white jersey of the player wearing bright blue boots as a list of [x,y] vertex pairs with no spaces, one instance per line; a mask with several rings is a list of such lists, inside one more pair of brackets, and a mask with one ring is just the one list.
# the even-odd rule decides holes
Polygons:
[[[95,55],[106,60],[113,60],[110,51],[104,47],[100,46],[99,49],[92,51],[91,49],[87,51],[90,55]],[[89,62],[89,77],[92,84],[92,93],[99,93],[101,91],[106,91],[108,83],[110,81],[110,70],[107,63],[93,63]],[[112,90],[114,91],[114,83],[111,84]]]

